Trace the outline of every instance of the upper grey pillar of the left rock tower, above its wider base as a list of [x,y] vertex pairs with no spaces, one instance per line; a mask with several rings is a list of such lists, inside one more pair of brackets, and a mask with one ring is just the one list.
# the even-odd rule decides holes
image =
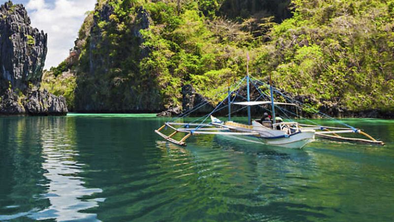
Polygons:
[[30,26],[21,4],[0,6],[0,91],[25,92],[29,83],[38,86],[47,54],[47,34]]

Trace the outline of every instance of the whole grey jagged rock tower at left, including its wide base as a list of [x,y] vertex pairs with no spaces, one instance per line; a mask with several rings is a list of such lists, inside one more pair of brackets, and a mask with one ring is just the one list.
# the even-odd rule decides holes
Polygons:
[[21,4],[0,6],[0,115],[64,115],[66,99],[39,89],[47,34],[30,26]]

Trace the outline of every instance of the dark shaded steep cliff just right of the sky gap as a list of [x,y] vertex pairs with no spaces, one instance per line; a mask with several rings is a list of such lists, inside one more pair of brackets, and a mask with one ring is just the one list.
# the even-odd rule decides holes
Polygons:
[[[149,29],[152,19],[143,7],[135,8],[134,17],[117,14],[113,5],[109,2],[96,5],[85,53],[79,57],[76,71],[75,110],[162,111],[164,104],[155,73],[141,70],[140,65],[150,52],[143,47],[141,30]],[[124,26],[119,26],[118,19]],[[117,44],[109,36],[116,36]]]

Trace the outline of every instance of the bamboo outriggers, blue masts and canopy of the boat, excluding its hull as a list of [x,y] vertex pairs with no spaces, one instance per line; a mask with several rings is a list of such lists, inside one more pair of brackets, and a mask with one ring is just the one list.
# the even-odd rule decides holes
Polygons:
[[[225,100],[223,100],[218,106],[216,106],[216,108],[207,116],[205,116],[206,118],[200,123],[200,124],[194,124],[194,123],[171,123],[171,122],[167,122],[165,123],[162,127],[160,127],[159,129],[155,130],[155,132],[157,134],[159,134],[161,137],[163,137],[165,140],[175,143],[177,145],[181,145],[181,146],[186,146],[185,141],[191,137],[192,135],[198,135],[198,134],[221,134],[221,135],[246,135],[246,136],[260,136],[260,133],[256,130],[253,130],[252,127],[252,121],[251,121],[251,111],[250,111],[250,106],[253,105],[262,105],[262,104],[267,104],[270,103],[271,105],[271,114],[272,114],[272,126],[276,127],[276,126],[282,126],[282,125],[294,125],[295,123],[276,123],[276,118],[275,118],[275,104],[286,104],[286,105],[296,105],[295,103],[280,103],[280,102],[274,102],[274,97],[273,97],[273,87],[272,87],[272,80],[271,80],[271,75],[269,75],[269,85],[266,85],[265,83],[259,81],[258,79],[254,78],[254,80],[251,79],[251,77],[249,76],[249,55],[248,55],[248,59],[247,59],[247,75],[246,77],[244,77],[240,82],[238,82],[237,87],[235,87],[235,89],[239,89],[238,86],[240,86],[241,83],[243,83],[244,80],[246,80],[246,86],[247,86],[247,97],[246,97],[246,102],[231,102],[231,96],[233,93],[235,93],[235,90],[233,90],[232,92],[230,92],[230,83],[229,83],[229,87],[228,87],[228,96],[226,97]],[[252,77],[253,78],[253,77]],[[262,85],[268,86],[269,90],[270,90],[270,101],[250,101],[250,83],[252,82],[252,84],[254,84],[253,81],[256,81],[257,83],[260,83]],[[255,84],[254,84],[255,85]],[[258,92],[261,94],[261,96],[265,95],[263,92],[260,91],[260,89],[255,85],[256,89],[258,90]],[[276,92],[278,92],[276,90]],[[237,93],[235,93],[237,95]],[[279,94],[281,94],[279,92]],[[281,94],[283,95],[283,94]],[[236,97],[236,96],[235,96]],[[234,99],[235,99],[234,97]],[[245,97],[243,97],[245,98]],[[204,124],[205,120],[211,116],[215,111],[217,111],[218,107],[224,102],[226,101],[228,102],[228,109],[229,109],[229,121],[231,120],[231,103],[233,104],[238,104],[238,105],[246,105],[246,107],[248,108],[248,126],[242,126],[242,127],[233,127],[233,126],[228,126],[226,124],[221,124],[220,123],[216,123],[216,122],[212,122],[211,124]],[[290,101],[294,100],[292,98],[289,98]],[[297,103],[299,103],[300,105],[305,105],[302,104],[299,101],[296,101]],[[206,102],[205,102],[206,103]],[[204,105],[204,104],[203,104]],[[297,106],[297,105],[296,105]],[[197,105],[197,109],[202,107],[201,104]],[[301,107],[302,108],[302,107]],[[189,113],[186,113],[187,115],[190,114],[191,111],[189,111]],[[320,112],[319,112],[320,113]],[[322,114],[322,113],[321,113]],[[187,116],[185,114],[183,114],[182,116],[185,117]],[[326,114],[323,114],[325,117],[329,117]],[[298,116],[298,114],[296,114],[296,116]],[[299,117],[299,116],[298,116]],[[329,117],[331,118],[331,117]],[[331,118],[333,119],[333,118]],[[335,119],[333,119],[335,120]],[[218,120],[220,121],[220,120]],[[340,121],[336,120],[337,122],[341,123]],[[348,142],[361,142],[361,143],[368,143],[368,144],[374,144],[374,145],[382,145],[384,146],[385,143],[383,141],[378,141],[375,138],[373,138],[372,136],[370,136],[369,134],[361,131],[361,129],[357,129],[354,127],[351,127],[349,125],[346,125],[345,123],[341,123],[342,125],[348,127],[348,128],[344,128],[344,127],[325,127],[325,126],[318,126],[318,125],[306,125],[306,124],[299,124],[296,123],[296,127],[297,128],[293,128],[295,130],[299,130],[298,128],[301,129],[313,129],[315,130],[315,136],[318,137],[322,137],[325,139],[331,139],[331,140],[339,140],[339,141],[348,141]],[[175,127],[175,126],[180,126],[180,127]],[[164,135],[161,131],[164,128],[170,128],[173,130],[172,133],[170,133],[168,136]],[[195,127],[195,128],[190,128],[190,127]],[[173,138],[173,136],[175,136],[178,133],[186,133],[186,135],[184,137],[182,137],[182,139],[180,140],[175,140]],[[363,136],[365,136],[367,139],[361,139],[361,138],[350,138],[350,137],[343,137],[340,136],[339,134],[341,133],[358,133],[361,134]]]

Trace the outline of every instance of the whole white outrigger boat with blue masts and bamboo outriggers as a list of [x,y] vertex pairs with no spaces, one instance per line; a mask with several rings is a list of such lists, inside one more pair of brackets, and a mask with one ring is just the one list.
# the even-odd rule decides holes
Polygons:
[[[181,146],[186,146],[185,141],[193,136],[193,135],[224,135],[228,137],[232,137],[238,140],[243,140],[246,142],[252,142],[257,144],[265,144],[270,146],[279,146],[285,148],[295,148],[301,149],[308,143],[311,143],[315,140],[315,137],[321,137],[328,140],[339,140],[339,141],[347,141],[347,142],[361,142],[375,145],[384,145],[383,141],[378,141],[374,139],[372,136],[366,134],[361,131],[361,129],[349,126],[339,120],[329,117],[328,115],[321,113],[317,110],[313,110],[307,104],[303,104],[295,99],[282,94],[279,90],[274,89],[272,87],[271,76],[269,76],[269,84],[265,84],[262,81],[258,80],[249,75],[249,68],[247,68],[248,74],[241,81],[235,84],[235,87],[228,87],[227,97],[216,106],[213,111],[193,122],[183,123],[183,122],[166,122],[162,127],[155,130],[157,134],[162,136],[165,140],[172,142],[174,144],[178,144]],[[247,97],[243,97],[239,95],[238,92],[240,90],[240,86],[246,81],[247,87]],[[255,101],[250,101],[250,85],[253,85],[257,92],[260,93],[260,96]],[[270,95],[266,95],[263,93],[261,88],[268,88]],[[230,89],[233,89],[230,91]],[[222,92],[224,94],[225,92]],[[281,96],[282,99],[286,99],[289,102],[275,102],[274,101],[274,93],[277,93]],[[237,101],[235,99],[241,97],[246,101]],[[268,101],[259,101],[261,97],[270,98]],[[226,108],[224,105],[227,101],[228,107],[228,121],[221,121],[218,118],[215,118],[213,114]],[[206,102],[203,102],[196,106],[195,109],[190,110],[178,118],[176,120],[183,120],[184,117],[189,116],[193,111],[204,106]],[[247,124],[236,123],[231,120],[231,104],[233,105],[241,105],[242,108],[236,110],[235,112],[247,108],[248,113],[248,122]],[[272,121],[259,121],[259,120],[251,120],[251,107],[259,106],[263,109],[266,109],[264,105],[270,105],[270,112],[272,114]],[[344,127],[329,127],[329,126],[320,126],[317,123],[314,123],[312,120],[305,119],[306,121],[311,122],[312,124],[300,124],[298,122],[292,121],[288,114],[292,116],[296,116],[297,118],[302,118],[298,114],[281,108],[280,106],[296,106],[297,108],[301,108],[302,110],[313,110],[315,114],[323,118],[329,118],[337,124],[340,124]],[[275,117],[275,108],[282,111],[284,115],[289,117],[290,121],[288,122],[277,122],[278,118]],[[198,120],[203,119],[200,123],[196,123]],[[207,123],[207,120],[210,119],[210,122]],[[279,118],[281,119],[281,118]],[[162,133],[162,130],[165,128],[173,130],[169,135],[165,135]],[[178,133],[185,133],[180,140],[175,140],[174,136]],[[355,138],[355,137],[344,137],[340,134],[343,133],[355,133],[360,134],[366,137],[366,139]]]

